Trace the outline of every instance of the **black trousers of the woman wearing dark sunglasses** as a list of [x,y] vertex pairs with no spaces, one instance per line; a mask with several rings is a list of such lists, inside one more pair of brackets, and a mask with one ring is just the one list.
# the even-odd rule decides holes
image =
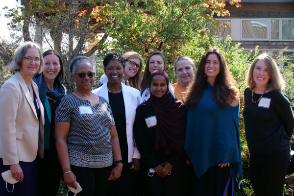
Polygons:
[[[83,189],[78,196],[106,196],[109,187],[111,166],[106,168],[84,168],[71,165],[76,181]],[[69,196],[74,193],[69,192]]]

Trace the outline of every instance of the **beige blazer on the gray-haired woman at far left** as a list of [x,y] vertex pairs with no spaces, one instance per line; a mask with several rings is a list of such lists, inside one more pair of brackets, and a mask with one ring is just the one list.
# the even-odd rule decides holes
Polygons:
[[32,87],[40,107],[40,123],[19,71],[0,89],[0,158],[3,165],[32,162],[37,153],[43,159],[44,108],[33,81]]

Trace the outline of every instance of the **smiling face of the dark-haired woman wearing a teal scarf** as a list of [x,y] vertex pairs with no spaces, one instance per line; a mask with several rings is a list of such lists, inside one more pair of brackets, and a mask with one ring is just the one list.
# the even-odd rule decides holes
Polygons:
[[59,58],[55,54],[48,54],[44,56],[44,64],[44,79],[54,80],[61,69]]

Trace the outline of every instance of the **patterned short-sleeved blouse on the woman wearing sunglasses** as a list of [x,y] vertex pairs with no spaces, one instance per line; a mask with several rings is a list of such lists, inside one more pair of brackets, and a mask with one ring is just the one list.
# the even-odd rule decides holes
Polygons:
[[67,140],[71,165],[88,168],[112,165],[110,131],[115,123],[108,101],[100,96],[99,99],[92,107],[93,114],[81,115],[79,106],[89,106],[90,102],[73,94],[64,97],[55,111],[55,123],[71,123]]

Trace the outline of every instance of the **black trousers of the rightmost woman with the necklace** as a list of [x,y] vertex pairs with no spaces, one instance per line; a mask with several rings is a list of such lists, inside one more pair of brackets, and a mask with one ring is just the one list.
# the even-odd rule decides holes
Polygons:
[[290,148],[275,154],[250,153],[250,182],[255,196],[283,196],[290,160]]

